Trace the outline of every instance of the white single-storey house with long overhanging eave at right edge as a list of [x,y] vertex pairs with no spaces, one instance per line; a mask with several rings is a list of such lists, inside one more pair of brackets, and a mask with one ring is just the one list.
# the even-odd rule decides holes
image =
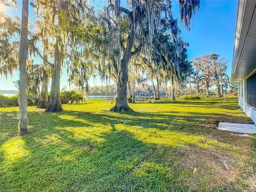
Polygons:
[[256,123],[256,1],[238,1],[231,84],[238,105]]

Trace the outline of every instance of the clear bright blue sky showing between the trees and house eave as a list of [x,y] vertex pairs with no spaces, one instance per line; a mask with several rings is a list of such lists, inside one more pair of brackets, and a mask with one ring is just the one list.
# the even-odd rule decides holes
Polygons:
[[[121,0],[126,1],[126,0]],[[17,9],[7,9],[6,14],[11,16],[21,17],[21,4],[19,0]],[[93,4],[100,4],[101,0],[92,1]],[[175,18],[179,18],[179,3],[173,0],[173,13]],[[195,17],[191,20],[191,29],[188,31],[182,23],[179,23],[181,29],[181,37],[189,43],[188,47],[188,60],[195,57],[200,57],[204,54],[219,53],[222,57],[228,60],[227,73],[230,76],[231,65],[233,60],[233,49],[236,28],[237,16],[237,3],[236,0],[229,1],[200,1],[201,9],[196,12]],[[29,7],[30,22],[33,22],[33,9]],[[12,77],[7,79],[0,76],[0,90],[17,90],[14,81],[19,79],[19,73],[16,71]],[[68,75],[67,69],[62,69],[60,80],[60,89],[67,86]],[[90,86],[102,85],[105,82],[99,77],[90,79]]]

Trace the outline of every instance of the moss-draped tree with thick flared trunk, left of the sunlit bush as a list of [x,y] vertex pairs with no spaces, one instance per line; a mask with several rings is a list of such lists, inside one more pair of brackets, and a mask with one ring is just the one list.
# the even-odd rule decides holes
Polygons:
[[39,17],[44,19],[44,24],[39,33],[41,38],[50,36],[54,39],[54,62],[50,63],[45,58],[49,65],[52,66],[52,79],[51,79],[51,93],[47,112],[62,111],[60,101],[60,74],[64,61],[67,58],[66,41],[69,38],[70,31],[63,30],[62,20],[65,18],[79,18],[87,7],[86,1],[73,1],[73,0],[59,0],[53,1],[36,1],[33,5]]

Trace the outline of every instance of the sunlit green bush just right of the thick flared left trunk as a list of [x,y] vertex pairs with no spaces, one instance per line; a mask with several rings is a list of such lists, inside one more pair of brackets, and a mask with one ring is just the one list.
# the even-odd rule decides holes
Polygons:
[[83,101],[83,94],[75,91],[63,91],[60,93],[62,104],[73,104]]

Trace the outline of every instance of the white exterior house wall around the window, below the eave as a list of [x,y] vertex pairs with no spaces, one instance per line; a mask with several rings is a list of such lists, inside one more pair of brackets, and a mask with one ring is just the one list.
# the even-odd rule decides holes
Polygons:
[[256,85],[247,87],[247,79],[243,79],[243,81],[239,83],[238,105],[243,109],[245,114],[249,116],[256,124],[256,108],[247,104],[247,89],[256,89]]

